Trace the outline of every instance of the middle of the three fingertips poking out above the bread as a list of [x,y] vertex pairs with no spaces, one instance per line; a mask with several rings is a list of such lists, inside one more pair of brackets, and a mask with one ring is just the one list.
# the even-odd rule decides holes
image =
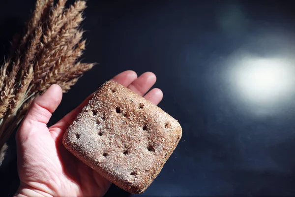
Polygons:
[[148,90],[156,83],[156,75],[152,72],[145,72],[136,80],[134,80],[128,88],[133,92],[144,96]]

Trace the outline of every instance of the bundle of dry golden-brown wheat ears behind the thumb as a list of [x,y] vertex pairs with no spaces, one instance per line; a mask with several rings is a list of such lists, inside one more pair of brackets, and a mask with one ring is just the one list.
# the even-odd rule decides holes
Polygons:
[[[86,48],[80,30],[85,0],[68,8],[66,0],[37,0],[22,34],[11,42],[0,68],[0,148],[26,114],[30,103],[52,84],[70,90],[94,64],[78,62]],[[0,161],[1,163],[1,161]]]

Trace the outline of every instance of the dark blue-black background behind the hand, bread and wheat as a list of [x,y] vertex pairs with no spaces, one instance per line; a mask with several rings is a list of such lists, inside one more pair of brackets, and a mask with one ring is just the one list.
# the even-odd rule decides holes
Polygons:
[[[0,1],[1,54],[34,2]],[[51,124],[119,72],[152,71],[164,92],[159,106],[179,121],[183,137],[140,196],[295,196],[291,0],[89,0],[88,6],[84,60],[100,65],[64,95]],[[18,187],[13,137],[9,145],[0,167],[5,197]],[[112,186],[107,196],[129,195]]]

